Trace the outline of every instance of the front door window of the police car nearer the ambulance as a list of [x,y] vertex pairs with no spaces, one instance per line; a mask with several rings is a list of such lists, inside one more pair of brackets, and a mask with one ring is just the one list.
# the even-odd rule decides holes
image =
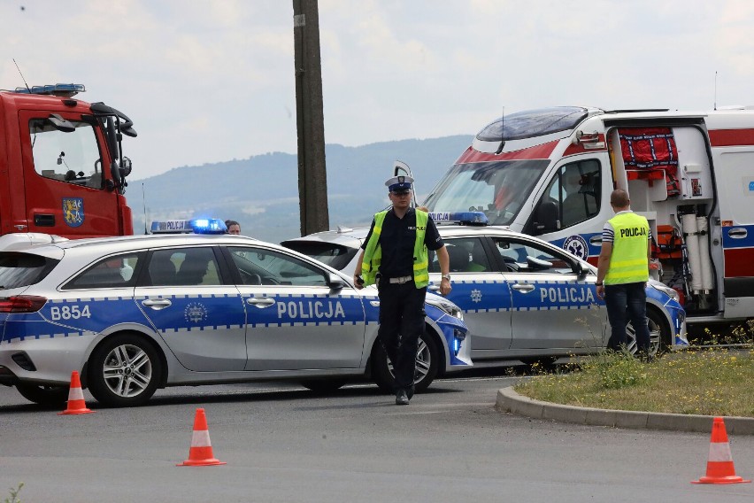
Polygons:
[[494,237],[495,249],[500,253],[509,272],[532,274],[570,274],[571,261],[565,256],[534,243]]

